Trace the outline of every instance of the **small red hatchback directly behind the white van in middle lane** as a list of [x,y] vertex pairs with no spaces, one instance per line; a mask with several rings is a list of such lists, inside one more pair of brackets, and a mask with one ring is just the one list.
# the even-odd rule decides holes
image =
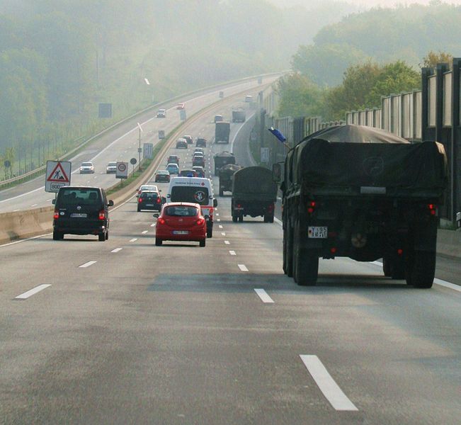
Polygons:
[[164,241],[195,241],[205,246],[207,222],[200,205],[188,202],[171,202],[164,205],[156,222],[155,244]]

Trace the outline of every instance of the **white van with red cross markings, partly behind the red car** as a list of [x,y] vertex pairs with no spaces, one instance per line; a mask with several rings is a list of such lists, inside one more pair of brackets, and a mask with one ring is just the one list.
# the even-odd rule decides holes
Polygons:
[[173,177],[170,180],[166,202],[198,203],[202,215],[207,220],[207,237],[213,235],[213,212],[217,207],[217,199],[213,195],[210,179],[201,177]]

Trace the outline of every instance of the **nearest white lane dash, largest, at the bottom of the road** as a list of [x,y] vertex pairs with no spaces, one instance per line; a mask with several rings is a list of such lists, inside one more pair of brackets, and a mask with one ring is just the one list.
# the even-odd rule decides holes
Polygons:
[[348,399],[335,380],[331,378],[328,370],[317,356],[300,354],[300,358],[317,383],[320,391],[335,410],[358,411],[353,402]]

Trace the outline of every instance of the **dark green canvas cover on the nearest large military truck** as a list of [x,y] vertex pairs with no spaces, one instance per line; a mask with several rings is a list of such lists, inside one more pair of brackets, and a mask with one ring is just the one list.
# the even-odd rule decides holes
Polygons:
[[306,137],[290,152],[288,164],[288,184],[295,186],[379,186],[441,194],[447,179],[440,143],[411,144],[360,125],[338,125]]

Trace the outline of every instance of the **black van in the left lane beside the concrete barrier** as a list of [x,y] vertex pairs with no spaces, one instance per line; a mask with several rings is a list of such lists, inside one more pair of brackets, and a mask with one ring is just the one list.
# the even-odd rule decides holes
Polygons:
[[63,186],[53,199],[53,239],[64,239],[64,234],[97,234],[103,242],[109,239],[109,209],[113,200],[107,200],[103,188]]

